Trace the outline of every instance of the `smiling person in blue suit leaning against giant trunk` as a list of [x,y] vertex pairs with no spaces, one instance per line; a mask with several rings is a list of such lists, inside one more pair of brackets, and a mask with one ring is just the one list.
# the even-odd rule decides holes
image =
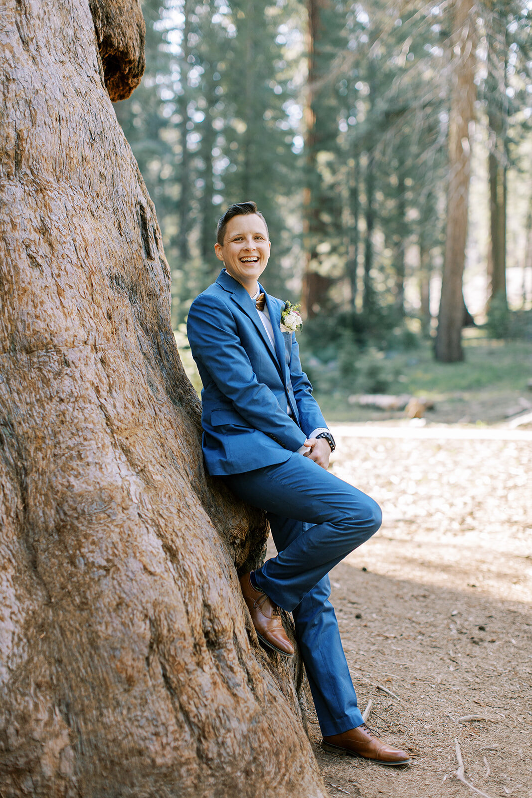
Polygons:
[[334,440],[301,369],[290,306],[258,282],[270,257],[253,202],[218,223],[223,270],[192,302],[187,334],[203,382],[203,454],[242,500],[266,511],[277,556],[240,577],[262,642],[294,648],[279,607],[291,612],[322,745],[380,764],[409,764],[363,721],[329,601],[329,571],[380,527],[380,508],[328,470]]

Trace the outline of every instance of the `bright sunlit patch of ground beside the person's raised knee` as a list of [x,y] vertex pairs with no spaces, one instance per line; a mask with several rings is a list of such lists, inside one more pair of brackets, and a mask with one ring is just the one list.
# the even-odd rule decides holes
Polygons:
[[532,603],[530,433],[449,429],[444,438],[439,430],[360,431],[355,437],[341,429],[332,470],[376,499],[384,522],[345,562],[395,579]]

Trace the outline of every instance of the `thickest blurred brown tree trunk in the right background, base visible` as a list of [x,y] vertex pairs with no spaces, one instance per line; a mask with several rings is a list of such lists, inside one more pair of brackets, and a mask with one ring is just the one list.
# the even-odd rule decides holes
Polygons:
[[463,360],[462,279],[467,242],[467,207],[471,172],[470,124],[475,103],[474,0],[454,4],[451,36],[451,107],[449,111],[449,184],[447,229],[439,303],[435,358]]

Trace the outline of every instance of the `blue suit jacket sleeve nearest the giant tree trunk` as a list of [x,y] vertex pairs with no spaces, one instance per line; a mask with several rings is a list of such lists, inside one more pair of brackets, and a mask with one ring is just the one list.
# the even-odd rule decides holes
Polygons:
[[297,452],[305,433],[279,407],[274,392],[258,382],[234,316],[224,302],[213,295],[196,298],[188,313],[187,335],[195,361],[203,365],[242,418]]

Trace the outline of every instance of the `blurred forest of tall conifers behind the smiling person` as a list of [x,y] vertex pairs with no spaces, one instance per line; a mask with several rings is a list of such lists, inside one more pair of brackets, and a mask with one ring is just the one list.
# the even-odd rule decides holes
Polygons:
[[473,318],[478,372],[486,337],[514,338],[516,370],[491,379],[524,379],[531,9],[145,0],[146,72],[115,108],[156,204],[185,365],[188,307],[219,272],[216,221],[254,199],[272,241],[267,290],[311,320],[304,366],[329,417],[357,391],[430,393],[433,353],[463,361]]

